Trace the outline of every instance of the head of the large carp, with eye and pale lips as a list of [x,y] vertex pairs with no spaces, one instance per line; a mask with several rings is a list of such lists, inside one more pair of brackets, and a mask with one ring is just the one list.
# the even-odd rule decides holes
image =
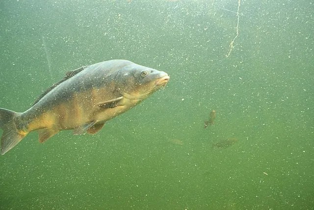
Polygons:
[[122,95],[133,100],[143,100],[161,87],[164,87],[170,77],[166,72],[141,66],[135,63],[127,65],[119,72]]

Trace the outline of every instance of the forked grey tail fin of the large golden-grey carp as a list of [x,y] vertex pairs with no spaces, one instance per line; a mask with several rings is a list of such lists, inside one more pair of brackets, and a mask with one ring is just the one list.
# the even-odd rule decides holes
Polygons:
[[19,131],[16,127],[16,118],[20,113],[0,108],[0,129],[3,130],[1,136],[1,154],[11,150],[17,145],[28,132]]

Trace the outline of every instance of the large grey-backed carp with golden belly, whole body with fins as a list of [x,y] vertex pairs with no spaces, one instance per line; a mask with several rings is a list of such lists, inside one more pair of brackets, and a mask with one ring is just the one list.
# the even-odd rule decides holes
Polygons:
[[1,154],[37,130],[43,143],[61,130],[97,133],[105,124],[167,84],[163,71],[108,60],[70,71],[25,112],[0,108]]

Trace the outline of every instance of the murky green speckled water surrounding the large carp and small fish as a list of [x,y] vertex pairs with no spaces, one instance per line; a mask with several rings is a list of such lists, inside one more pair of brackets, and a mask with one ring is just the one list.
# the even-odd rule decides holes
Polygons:
[[314,209],[313,7],[241,0],[236,36],[238,0],[0,1],[1,108],[104,60],[171,78],[94,136],[27,135],[0,209]]

